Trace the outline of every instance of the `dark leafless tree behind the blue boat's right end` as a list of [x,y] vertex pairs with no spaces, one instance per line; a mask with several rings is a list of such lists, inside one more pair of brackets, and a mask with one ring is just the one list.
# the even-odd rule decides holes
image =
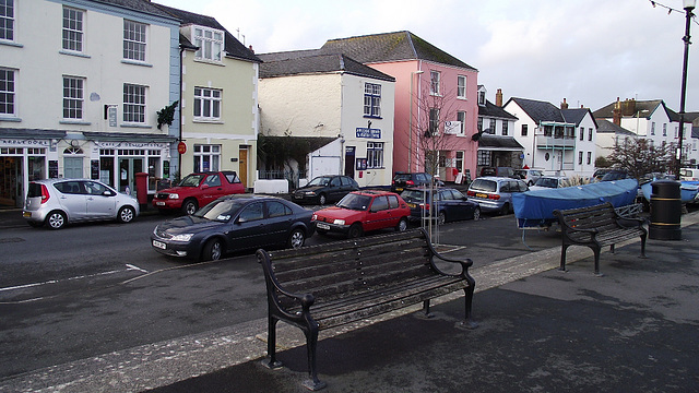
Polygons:
[[673,148],[668,144],[655,146],[643,138],[625,138],[614,143],[607,160],[612,167],[624,169],[636,179],[645,174],[665,172],[673,162]]

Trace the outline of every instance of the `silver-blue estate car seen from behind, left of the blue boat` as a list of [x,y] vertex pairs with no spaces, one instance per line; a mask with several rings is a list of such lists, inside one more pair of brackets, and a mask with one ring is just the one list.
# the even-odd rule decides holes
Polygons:
[[477,202],[483,212],[512,212],[512,194],[528,191],[526,183],[519,179],[503,177],[483,177],[473,180],[466,195]]

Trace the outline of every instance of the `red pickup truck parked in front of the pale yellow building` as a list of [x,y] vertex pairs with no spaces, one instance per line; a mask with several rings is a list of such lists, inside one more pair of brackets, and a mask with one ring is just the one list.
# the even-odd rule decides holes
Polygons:
[[233,170],[187,175],[176,187],[161,190],[153,198],[153,206],[161,211],[181,210],[193,214],[218,196],[244,193],[245,187]]

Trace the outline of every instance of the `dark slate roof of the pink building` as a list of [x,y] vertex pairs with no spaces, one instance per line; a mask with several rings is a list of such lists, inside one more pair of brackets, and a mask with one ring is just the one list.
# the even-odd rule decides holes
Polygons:
[[320,50],[324,53],[345,53],[365,64],[428,60],[476,71],[475,68],[407,31],[329,39]]

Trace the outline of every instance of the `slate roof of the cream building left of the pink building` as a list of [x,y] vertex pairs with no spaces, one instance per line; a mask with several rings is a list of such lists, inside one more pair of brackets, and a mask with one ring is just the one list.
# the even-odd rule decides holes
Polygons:
[[260,55],[260,59],[264,61],[260,64],[260,78],[345,72],[353,75],[395,82],[395,78],[365,66],[345,55],[303,56],[307,55],[308,51],[301,52],[300,56],[295,56],[293,52],[284,52],[284,56],[279,53]]

